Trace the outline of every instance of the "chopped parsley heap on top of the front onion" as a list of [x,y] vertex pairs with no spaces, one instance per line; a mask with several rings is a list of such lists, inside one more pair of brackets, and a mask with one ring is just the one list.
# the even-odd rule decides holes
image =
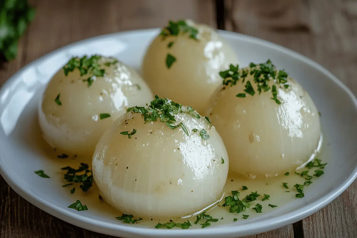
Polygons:
[[[145,123],[147,121],[157,121],[159,119],[159,121],[166,123],[166,125],[172,130],[181,127],[182,131],[185,132],[185,134],[188,136],[188,130],[182,122],[174,125],[174,123],[176,122],[175,115],[180,112],[185,112],[182,110],[182,105],[179,103],[170,101],[167,98],[160,98],[159,96],[155,95],[155,99],[150,102],[149,106],[130,107],[128,108],[127,112],[130,111],[141,113],[144,116]],[[190,113],[190,110],[187,109],[187,112]]]

